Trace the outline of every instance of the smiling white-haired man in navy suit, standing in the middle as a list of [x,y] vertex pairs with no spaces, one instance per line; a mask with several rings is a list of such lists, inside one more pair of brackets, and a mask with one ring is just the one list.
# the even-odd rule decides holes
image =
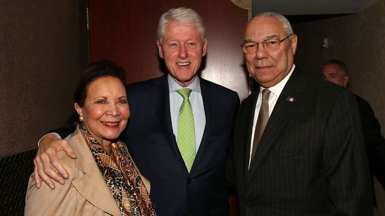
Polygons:
[[[157,44],[169,73],[127,86],[131,116],[123,140],[151,183],[150,196],[158,216],[228,215],[225,159],[233,145],[238,94],[198,77],[207,38],[202,19],[193,9],[180,7],[164,13]],[[183,98],[176,90],[184,87],[192,89],[189,100],[195,123],[196,156],[191,167],[186,167],[177,140]],[[57,146],[52,148],[37,155],[40,169],[42,160],[47,168],[51,166],[49,158],[55,157]],[[64,180],[50,173],[54,179]],[[51,181],[42,171],[40,174]]]

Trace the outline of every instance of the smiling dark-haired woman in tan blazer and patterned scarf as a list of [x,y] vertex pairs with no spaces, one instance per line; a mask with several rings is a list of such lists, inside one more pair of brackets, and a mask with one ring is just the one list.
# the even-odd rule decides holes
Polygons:
[[124,69],[108,60],[80,74],[74,93],[79,124],[66,138],[77,158],[58,152],[69,178],[54,190],[46,184],[38,189],[31,174],[25,215],[156,215],[149,181],[115,140],[130,115],[124,77]]

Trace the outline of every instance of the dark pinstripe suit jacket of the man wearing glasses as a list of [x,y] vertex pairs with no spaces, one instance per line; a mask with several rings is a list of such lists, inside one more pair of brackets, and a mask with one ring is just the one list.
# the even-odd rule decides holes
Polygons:
[[253,92],[241,104],[234,166],[228,169],[237,185],[240,215],[372,215],[370,176],[353,94],[296,67],[248,170],[258,94]]

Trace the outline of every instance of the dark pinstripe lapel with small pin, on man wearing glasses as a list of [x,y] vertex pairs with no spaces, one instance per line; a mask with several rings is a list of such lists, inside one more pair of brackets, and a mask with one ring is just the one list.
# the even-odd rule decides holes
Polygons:
[[[262,134],[255,156],[251,161],[250,170],[247,174],[247,185],[251,182],[252,176],[256,172],[258,166],[261,164],[272,144],[277,139],[278,134],[280,134],[287,121],[292,116],[293,111],[295,111],[306,99],[304,93],[305,89],[305,75],[300,73],[299,69],[295,68],[279,95],[274,106],[274,110],[271,113],[269,121],[267,122],[265,131]],[[294,98],[294,100],[290,101],[290,98]],[[250,152],[250,141],[248,146]]]

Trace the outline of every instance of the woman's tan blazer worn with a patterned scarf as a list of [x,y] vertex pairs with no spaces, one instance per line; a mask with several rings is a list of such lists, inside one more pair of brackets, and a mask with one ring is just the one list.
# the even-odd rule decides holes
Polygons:
[[[31,174],[25,215],[122,215],[79,128],[66,139],[77,155],[72,159],[58,152],[69,178],[64,185],[56,183],[54,190],[45,183],[38,189]],[[150,191],[149,181],[140,176]]]

